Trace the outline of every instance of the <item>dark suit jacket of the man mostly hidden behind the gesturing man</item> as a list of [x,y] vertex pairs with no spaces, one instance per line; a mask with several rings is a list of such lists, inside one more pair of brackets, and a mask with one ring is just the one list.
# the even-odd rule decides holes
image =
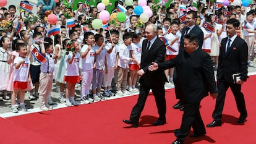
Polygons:
[[[181,43],[179,45],[179,51],[183,52],[184,51],[184,34],[187,30],[187,27],[184,27],[182,29],[182,33],[181,33]],[[194,33],[195,35],[198,36],[198,46],[200,49],[202,49],[203,46],[203,31],[201,30],[201,28],[199,28],[197,25],[195,25],[194,28],[192,28],[192,30],[189,31],[189,33]]]

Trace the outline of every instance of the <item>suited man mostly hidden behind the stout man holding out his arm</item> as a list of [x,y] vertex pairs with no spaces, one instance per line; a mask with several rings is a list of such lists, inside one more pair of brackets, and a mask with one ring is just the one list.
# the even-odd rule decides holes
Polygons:
[[[184,53],[184,48],[183,48],[184,35],[186,35],[188,33],[193,33],[193,34],[198,36],[198,46],[199,46],[200,49],[202,49],[203,32],[202,32],[201,28],[199,28],[196,25],[196,22],[197,22],[197,12],[195,12],[195,11],[187,12],[187,15],[186,15],[187,26],[182,29],[181,43],[179,45],[179,53]],[[174,82],[174,86],[175,86],[176,99],[179,99],[179,101],[176,104],[174,104],[173,108],[182,110],[183,109],[183,104],[182,104],[182,101],[179,98],[180,94],[178,93],[179,85],[177,85],[176,69],[174,69],[173,82]]]

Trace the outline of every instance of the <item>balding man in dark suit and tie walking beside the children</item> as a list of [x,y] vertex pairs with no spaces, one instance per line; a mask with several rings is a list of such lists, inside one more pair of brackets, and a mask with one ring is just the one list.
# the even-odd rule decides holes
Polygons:
[[153,23],[147,25],[145,28],[145,36],[147,39],[143,40],[142,43],[140,70],[137,73],[140,77],[139,98],[134,108],[132,108],[130,119],[123,120],[124,123],[131,124],[132,127],[138,127],[140,114],[145,106],[150,89],[155,96],[159,114],[158,120],[154,122],[153,125],[163,125],[166,123],[166,100],[164,90],[166,77],[164,70],[156,70],[155,72],[148,70],[148,66],[151,65],[151,62],[163,62],[166,53],[164,43],[157,38],[156,33],[157,28]]

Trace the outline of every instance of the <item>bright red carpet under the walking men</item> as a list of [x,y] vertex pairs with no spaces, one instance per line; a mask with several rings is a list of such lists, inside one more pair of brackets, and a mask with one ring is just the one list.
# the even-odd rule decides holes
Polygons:
[[[239,112],[231,91],[228,90],[221,127],[207,128],[207,135],[187,137],[185,143],[255,143],[256,76],[250,76],[242,86],[248,117],[244,125],[237,124]],[[55,109],[17,117],[0,119],[0,143],[86,143],[86,144],[167,144],[173,142],[173,130],[181,124],[182,112],[171,108],[177,102],[174,89],[166,90],[167,122],[154,127],[158,114],[153,96],[149,96],[142,112],[139,128],[130,128],[122,122],[129,119],[137,96],[72,108]],[[200,109],[205,124],[212,121],[215,100],[210,96],[202,101]]]

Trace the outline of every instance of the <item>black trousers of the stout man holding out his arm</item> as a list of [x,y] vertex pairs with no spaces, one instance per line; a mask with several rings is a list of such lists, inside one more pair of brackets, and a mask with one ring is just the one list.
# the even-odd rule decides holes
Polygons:
[[189,135],[191,127],[193,128],[195,135],[203,135],[206,133],[199,106],[200,103],[184,104],[181,127],[174,133],[178,140],[184,141],[187,135]]

